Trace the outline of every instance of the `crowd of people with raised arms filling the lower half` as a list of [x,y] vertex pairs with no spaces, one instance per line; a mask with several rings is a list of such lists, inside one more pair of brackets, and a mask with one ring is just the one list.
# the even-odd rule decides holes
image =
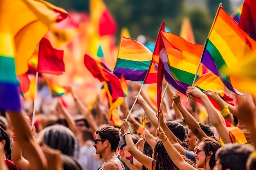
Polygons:
[[[123,120],[120,126],[108,119],[108,104],[101,99],[104,94],[99,93],[89,107],[71,86],[67,89],[75,104],[72,111],[61,99],[55,99],[52,104],[56,109],[46,113],[40,109],[41,102],[32,124],[31,108],[25,105],[22,113],[1,110],[0,169],[256,169],[253,96],[232,95],[232,106],[215,91],[189,87],[186,95],[191,98],[186,104],[180,93],[167,86],[158,112],[144,89],[138,95],[141,84],[128,82],[128,96],[118,110]],[[128,116],[135,97],[137,104]],[[145,127],[141,120],[144,113]]]

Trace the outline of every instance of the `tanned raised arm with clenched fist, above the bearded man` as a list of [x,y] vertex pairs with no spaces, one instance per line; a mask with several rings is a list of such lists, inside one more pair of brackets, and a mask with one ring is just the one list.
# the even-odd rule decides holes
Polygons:
[[177,108],[180,110],[180,113],[183,115],[186,124],[189,126],[190,130],[195,134],[195,136],[198,137],[199,140],[201,140],[203,137],[206,137],[207,135],[200,128],[198,121],[196,121],[196,119],[189,113],[188,110],[186,110],[186,108],[180,102],[179,93],[175,93],[175,95],[173,95],[173,101],[175,102]]

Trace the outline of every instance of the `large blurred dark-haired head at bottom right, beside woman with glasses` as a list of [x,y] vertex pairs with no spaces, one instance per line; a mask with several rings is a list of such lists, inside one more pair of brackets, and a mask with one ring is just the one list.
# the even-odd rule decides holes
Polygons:
[[226,144],[216,152],[216,170],[246,170],[246,162],[254,151],[249,145]]

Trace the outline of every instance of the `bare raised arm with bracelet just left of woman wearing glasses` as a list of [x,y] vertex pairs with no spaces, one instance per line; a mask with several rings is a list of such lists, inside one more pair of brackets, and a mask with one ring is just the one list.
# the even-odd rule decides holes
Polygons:
[[173,160],[173,163],[180,169],[180,170],[197,170],[193,166],[191,166],[189,163],[184,161],[182,155],[174,148],[174,146],[171,144],[171,142],[168,140],[168,137],[164,134],[164,131],[161,127],[157,128],[157,136],[159,139],[162,140],[164,144],[164,148],[166,149],[168,155]]

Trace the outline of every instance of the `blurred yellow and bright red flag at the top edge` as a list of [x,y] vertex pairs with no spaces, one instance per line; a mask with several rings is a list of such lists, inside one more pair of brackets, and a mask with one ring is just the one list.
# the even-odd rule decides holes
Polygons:
[[117,24],[103,0],[90,0],[90,17],[94,29],[100,36],[115,34]]

